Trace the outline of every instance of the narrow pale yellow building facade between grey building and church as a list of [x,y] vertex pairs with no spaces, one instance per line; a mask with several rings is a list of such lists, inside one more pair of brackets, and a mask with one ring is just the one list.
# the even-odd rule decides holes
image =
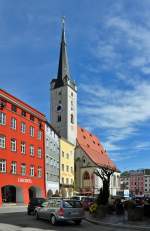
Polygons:
[[60,194],[73,196],[74,191],[74,150],[75,146],[60,138]]

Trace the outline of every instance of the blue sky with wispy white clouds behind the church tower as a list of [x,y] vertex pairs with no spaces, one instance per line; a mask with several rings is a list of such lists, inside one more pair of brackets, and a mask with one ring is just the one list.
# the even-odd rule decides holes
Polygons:
[[150,168],[149,12],[149,0],[0,0],[0,87],[49,118],[65,15],[79,125],[120,170]]

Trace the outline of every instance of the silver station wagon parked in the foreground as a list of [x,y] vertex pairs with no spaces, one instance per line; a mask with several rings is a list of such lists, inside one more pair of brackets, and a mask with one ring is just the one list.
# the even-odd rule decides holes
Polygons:
[[46,219],[55,225],[59,221],[74,221],[79,225],[84,219],[84,209],[80,201],[50,198],[35,209],[36,219]]

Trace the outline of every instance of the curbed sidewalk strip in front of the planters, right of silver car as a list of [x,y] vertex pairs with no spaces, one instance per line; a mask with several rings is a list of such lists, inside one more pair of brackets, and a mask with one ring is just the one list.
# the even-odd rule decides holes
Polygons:
[[150,219],[143,219],[143,221],[128,221],[127,213],[125,215],[107,215],[105,218],[94,218],[89,212],[85,212],[86,220],[103,226],[111,226],[122,229],[132,229],[132,230],[146,230],[150,231]]

